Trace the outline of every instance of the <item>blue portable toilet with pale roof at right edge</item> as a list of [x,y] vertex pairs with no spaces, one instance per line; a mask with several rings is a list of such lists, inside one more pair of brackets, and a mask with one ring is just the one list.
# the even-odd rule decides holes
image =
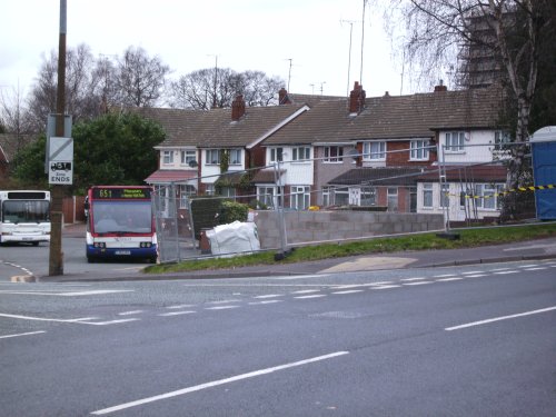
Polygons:
[[537,219],[556,220],[556,126],[537,130],[529,139],[533,155],[533,178],[536,187]]

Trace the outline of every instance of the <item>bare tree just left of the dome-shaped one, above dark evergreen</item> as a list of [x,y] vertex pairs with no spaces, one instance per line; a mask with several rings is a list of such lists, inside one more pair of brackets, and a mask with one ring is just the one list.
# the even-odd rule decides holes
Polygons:
[[120,102],[132,107],[152,107],[163,93],[170,68],[160,58],[150,58],[145,49],[129,47],[118,59],[116,89]]

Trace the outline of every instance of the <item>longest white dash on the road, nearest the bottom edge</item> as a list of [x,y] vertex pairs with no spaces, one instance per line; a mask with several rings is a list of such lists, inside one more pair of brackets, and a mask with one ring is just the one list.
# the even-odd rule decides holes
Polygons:
[[235,381],[247,379],[247,378],[254,378],[254,377],[258,377],[258,376],[261,376],[261,375],[267,375],[267,374],[276,373],[278,370],[284,370],[284,369],[288,369],[288,368],[295,368],[295,367],[298,367],[298,366],[308,365],[308,364],[317,363],[317,361],[320,361],[320,360],[327,360],[327,359],[331,359],[331,358],[335,358],[335,357],[338,357],[338,356],[342,356],[342,355],[348,355],[348,354],[349,354],[349,351],[336,351],[334,354],[317,356],[315,358],[299,360],[299,361],[296,361],[296,363],[284,364],[284,365],[274,366],[271,368],[254,370],[251,373],[236,375],[236,376],[232,376],[232,377],[229,377],[229,378],[224,378],[224,379],[218,379],[218,380],[214,380],[214,381],[210,381],[210,383],[195,385],[192,387],[187,387],[187,388],[178,389],[178,390],[166,393],[166,394],[160,394],[160,395],[156,395],[156,396],[152,396],[152,397],[147,397],[147,398],[138,399],[138,400],[135,400],[135,401],[120,404],[118,406],[103,408],[103,409],[100,409],[100,410],[97,410],[97,411],[92,411],[91,414],[96,415],[96,416],[101,416],[101,415],[105,415],[105,414],[120,411],[122,409],[127,409],[127,408],[131,408],[131,407],[137,407],[137,406],[141,406],[141,405],[145,405],[145,404],[159,401],[161,399],[168,399],[168,398],[172,398],[172,397],[178,397],[178,396],[181,396],[181,395],[186,395],[186,394],[199,391],[201,389],[214,388],[214,387],[217,387],[219,385],[230,384],[230,383],[235,383]]

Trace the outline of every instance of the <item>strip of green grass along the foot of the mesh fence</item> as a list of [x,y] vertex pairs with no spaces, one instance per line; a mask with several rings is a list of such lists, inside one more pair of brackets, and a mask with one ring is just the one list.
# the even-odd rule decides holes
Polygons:
[[192,271],[202,269],[229,269],[257,265],[274,265],[277,262],[292,264],[347,256],[397,252],[406,250],[433,250],[470,248],[485,245],[498,245],[513,241],[547,238],[556,236],[556,224],[537,224],[519,227],[498,227],[484,229],[455,230],[460,235],[458,240],[439,238],[436,234],[375,238],[345,244],[326,244],[296,248],[285,259],[275,260],[275,252],[237,256],[219,259],[192,259],[178,264],[162,264],[147,267],[147,274],[165,274]]

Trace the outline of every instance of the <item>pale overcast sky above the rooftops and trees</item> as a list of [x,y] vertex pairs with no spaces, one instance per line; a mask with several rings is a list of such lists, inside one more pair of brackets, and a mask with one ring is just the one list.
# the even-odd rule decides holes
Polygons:
[[[214,67],[217,56],[219,68],[264,71],[282,78],[286,87],[289,79],[290,92],[345,96],[349,57],[350,89],[361,78],[363,2],[67,0],[67,46],[86,43],[95,56],[141,47],[168,64],[176,79]],[[27,95],[43,57],[58,51],[60,0],[0,0],[0,88],[11,92],[19,85]],[[381,17],[368,6],[364,47],[367,97],[387,90],[399,95],[401,62]],[[413,92],[405,81],[404,93]]]

